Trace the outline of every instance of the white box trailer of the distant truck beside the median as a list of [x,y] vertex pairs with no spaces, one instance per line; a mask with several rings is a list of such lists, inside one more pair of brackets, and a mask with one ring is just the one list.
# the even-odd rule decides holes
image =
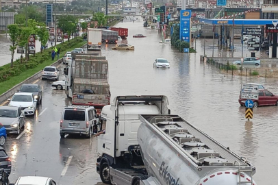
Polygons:
[[100,50],[102,34],[101,29],[88,28],[87,31],[87,49],[88,50]]

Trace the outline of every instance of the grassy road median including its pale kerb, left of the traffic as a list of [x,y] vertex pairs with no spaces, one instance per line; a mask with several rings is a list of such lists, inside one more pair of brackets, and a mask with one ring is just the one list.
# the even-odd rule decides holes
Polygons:
[[[25,69],[23,70],[21,73],[19,73],[18,75],[14,75],[9,77],[9,79],[0,82],[0,103],[2,103],[3,101],[6,101],[9,97],[11,97],[14,93],[16,93],[17,90],[19,90],[19,88],[21,87],[22,84],[28,84],[28,83],[32,83],[34,82],[36,79],[40,78],[42,75],[42,69],[45,68],[45,66],[58,66],[58,64],[60,64],[62,62],[62,56],[64,56],[64,53],[66,53],[66,51],[72,51],[73,49],[77,48],[77,47],[84,47],[85,43],[84,41],[80,40],[80,42],[77,42],[75,45],[71,45],[71,47],[64,47],[64,45],[66,45],[68,42],[64,42],[63,45],[58,45],[58,47],[61,47],[61,53],[60,53],[60,59],[53,62],[53,60],[51,60],[51,54],[50,51],[51,49],[47,49],[46,51],[44,51],[43,53],[37,53],[36,55],[40,55],[40,54],[45,54],[45,52],[49,52],[49,58],[47,58],[47,60],[43,61],[43,62],[38,62],[37,66],[35,66],[32,69]],[[62,47],[63,50],[62,50]],[[30,57],[33,58],[32,56]],[[19,61],[18,61],[19,62]],[[29,62],[29,61],[28,61]],[[24,63],[24,64],[28,64],[28,62]],[[34,62],[34,60],[33,60]],[[9,64],[7,64],[9,65]],[[8,69],[8,66],[1,66],[2,69]],[[1,73],[1,71],[0,71]]]

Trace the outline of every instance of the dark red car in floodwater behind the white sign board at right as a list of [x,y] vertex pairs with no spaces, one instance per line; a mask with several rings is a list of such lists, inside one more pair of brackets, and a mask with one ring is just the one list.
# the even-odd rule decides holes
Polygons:
[[[254,102],[254,108],[257,108],[257,106],[278,106],[278,95],[273,95],[273,93],[265,89],[259,89],[259,99],[252,100]],[[245,105],[245,101],[247,101],[247,99],[238,99],[238,103],[240,103],[241,106]]]

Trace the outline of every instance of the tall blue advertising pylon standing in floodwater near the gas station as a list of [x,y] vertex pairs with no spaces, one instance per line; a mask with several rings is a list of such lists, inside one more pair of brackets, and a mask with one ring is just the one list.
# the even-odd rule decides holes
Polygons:
[[179,27],[179,39],[181,41],[190,42],[190,22],[191,10],[181,10],[181,20]]

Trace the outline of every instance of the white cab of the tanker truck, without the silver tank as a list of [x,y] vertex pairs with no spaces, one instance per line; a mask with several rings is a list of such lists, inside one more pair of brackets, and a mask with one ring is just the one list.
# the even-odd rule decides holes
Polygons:
[[125,176],[125,171],[131,172],[136,168],[138,171],[132,173],[134,175],[129,173],[123,177],[125,180],[131,178],[132,182],[147,174],[137,140],[141,124],[138,114],[169,113],[165,96],[116,97],[109,106],[103,107],[99,130],[105,130],[105,134],[99,135],[97,140],[97,172],[104,183],[114,182],[119,169]]

